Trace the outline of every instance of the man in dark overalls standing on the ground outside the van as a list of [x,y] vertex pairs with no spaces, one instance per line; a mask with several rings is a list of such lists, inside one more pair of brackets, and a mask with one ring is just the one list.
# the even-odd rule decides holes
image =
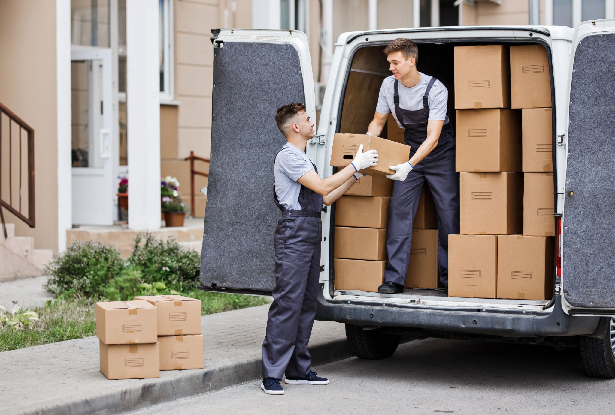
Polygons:
[[363,174],[375,166],[376,150],[363,153],[327,179],[320,179],[316,166],[306,155],[306,144],[314,137],[314,123],[304,104],[288,104],[276,111],[276,123],[287,143],[274,161],[274,200],[282,211],[274,235],[276,287],[269,308],[263,342],[263,382],[266,394],[282,395],[286,374],[289,384],[328,384],[329,380],[310,370],[309,336],[316,314],[320,274],[320,241],[323,203],[329,206],[346,193]]

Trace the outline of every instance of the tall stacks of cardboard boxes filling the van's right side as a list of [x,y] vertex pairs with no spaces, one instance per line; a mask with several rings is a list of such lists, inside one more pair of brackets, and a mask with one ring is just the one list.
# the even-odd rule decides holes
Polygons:
[[[546,300],[554,230],[546,50],[464,46],[454,60],[461,235],[449,238],[448,293]],[[526,171],[542,173],[525,173],[524,198]]]

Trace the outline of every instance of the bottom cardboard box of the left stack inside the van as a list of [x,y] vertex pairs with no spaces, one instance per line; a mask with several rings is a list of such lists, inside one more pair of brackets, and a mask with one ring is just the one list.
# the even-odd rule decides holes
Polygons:
[[334,259],[333,266],[336,290],[378,292],[378,287],[384,283],[386,261]]

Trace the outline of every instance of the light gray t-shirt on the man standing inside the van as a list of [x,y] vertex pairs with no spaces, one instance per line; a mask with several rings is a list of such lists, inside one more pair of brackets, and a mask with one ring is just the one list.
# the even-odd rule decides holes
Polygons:
[[[416,111],[423,108],[423,95],[432,76],[423,74],[423,72],[419,72],[419,75],[421,76],[421,81],[414,87],[404,87],[403,84],[399,82],[399,106],[402,109]],[[395,93],[394,83],[395,77],[392,75],[383,80],[383,84],[380,87],[376,111],[380,114],[389,114],[389,112],[392,112],[399,128],[403,128],[395,114],[395,103],[393,102],[393,94]],[[436,80],[431,87],[431,91],[429,91],[429,98],[427,99],[430,120],[444,120],[445,124],[448,123],[448,117],[446,116],[446,101],[448,101],[448,90],[446,90],[442,82]]]

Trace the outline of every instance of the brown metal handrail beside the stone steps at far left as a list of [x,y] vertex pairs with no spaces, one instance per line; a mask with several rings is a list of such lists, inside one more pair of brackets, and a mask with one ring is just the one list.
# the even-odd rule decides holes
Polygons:
[[[3,115],[9,119],[9,200],[4,200],[2,197],[2,141],[4,137],[2,136],[2,120]],[[18,200],[13,200],[14,193],[14,180],[13,180],[13,126],[16,125],[19,127],[19,177],[18,177],[18,188],[19,188],[19,198]],[[28,133],[28,142],[26,146],[27,160],[28,160],[28,215],[26,216],[22,211],[22,185],[23,185],[23,157],[22,157],[22,131],[26,131]],[[17,143],[15,143],[17,144]],[[15,198],[17,199],[17,198]],[[15,202],[15,203],[14,203]],[[20,220],[25,222],[29,227],[34,228],[36,226],[36,220],[34,215],[34,128],[30,125],[26,124],[22,118],[17,117],[14,112],[10,111],[6,106],[0,103],[0,220],[2,221],[2,228],[4,230],[4,238],[7,238],[6,232],[6,223],[4,222],[4,214],[2,213],[2,207],[6,208],[7,211],[11,212],[15,216],[17,216]]]

